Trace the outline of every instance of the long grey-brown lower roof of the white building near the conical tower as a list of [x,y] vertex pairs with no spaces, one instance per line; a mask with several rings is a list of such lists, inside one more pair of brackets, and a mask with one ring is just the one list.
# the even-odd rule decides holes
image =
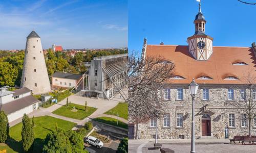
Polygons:
[[2,105],[1,110],[7,114],[11,114],[32,104],[35,104],[37,101],[39,100],[36,99],[33,95],[29,95]]

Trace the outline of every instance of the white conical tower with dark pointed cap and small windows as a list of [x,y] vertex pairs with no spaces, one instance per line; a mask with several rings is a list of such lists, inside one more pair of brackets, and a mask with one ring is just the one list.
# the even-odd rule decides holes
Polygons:
[[47,93],[51,90],[41,39],[35,31],[27,37],[20,86],[31,89],[34,94]]

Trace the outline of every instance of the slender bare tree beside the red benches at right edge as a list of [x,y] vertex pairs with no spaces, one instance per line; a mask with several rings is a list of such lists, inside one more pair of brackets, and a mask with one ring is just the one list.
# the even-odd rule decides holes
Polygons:
[[236,87],[240,90],[241,100],[231,104],[237,108],[238,113],[246,114],[246,120],[249,122],[248,135],[251,136],[251,122],[256,114],[256,77],[249,72],[243,80],[245,84]]

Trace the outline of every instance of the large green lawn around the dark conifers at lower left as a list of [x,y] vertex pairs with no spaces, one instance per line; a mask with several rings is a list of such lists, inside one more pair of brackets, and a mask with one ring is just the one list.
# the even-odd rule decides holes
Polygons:
[[[35,117],[34,118],[34,134],[35,134],[35,140],[34,140],[34,147],[33,152],[41,152],[44,139],[46,138],[46,135],[50,133],[52,130],[55,129],[55,124],[57,124],[58,127],[64,129],[64,130],[70,130],[72,127],[74,127],[76,124],[73,122],[69,122],[66,120],[54,118],[51,116],[42,116],[42,117]],[[0,144],[0,149],[9,149],[7,152],[24,152],[22,143],[19,142],[22,140],[22,122],[12,126],[10,128],[10,138],[7,140],[8,146],[3,146],[3,144]]]

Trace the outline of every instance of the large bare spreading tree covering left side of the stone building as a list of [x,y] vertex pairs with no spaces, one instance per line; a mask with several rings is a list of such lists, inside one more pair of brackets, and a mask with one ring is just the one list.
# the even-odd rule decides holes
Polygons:
[[131,54],[128,67],[129,120],[137,124],[137,139],[138,123],[148,122],[152,118],[157,120],[163,116],[167,106],[163,96],[163,83],[173,77],[175,64],[161,56],[147,56],[143,59]]

